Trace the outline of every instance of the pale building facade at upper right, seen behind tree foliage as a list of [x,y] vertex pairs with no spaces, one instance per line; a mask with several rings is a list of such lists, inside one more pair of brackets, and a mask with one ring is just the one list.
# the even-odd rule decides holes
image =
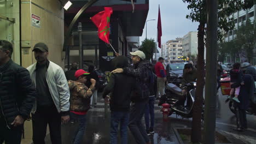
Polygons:
[[[246,22],[247,19],[251,20],[251,22],[256,20],[256,5],[254,5],[251,9],[237,11],[236,13],[233,13],[232,15],[230,15],[227,19],[234,20],[234,22],[235,22],[234,30],[229,31],[228,33],[225,33],[224,40],[230,41],[230,40],[233,40],[236,38],[236,29],[239,26],[241,26],[243,22]],[[256,46],[254,46],[254,55],[253,55],[253,59],[251,61],[251,63],[253,65],[256,65],[256,50],[255,49],[256,49]],[[229,55],[226,56],[227,62],[231,61],[230,59],[231,59],[231,57]],[[240,56],[237,57],[237,59],[239,59],[240,62],[248,61],[248,59],[246,58],[245,52],[240,52]],[[235,59],[235,61],[237,59]]]

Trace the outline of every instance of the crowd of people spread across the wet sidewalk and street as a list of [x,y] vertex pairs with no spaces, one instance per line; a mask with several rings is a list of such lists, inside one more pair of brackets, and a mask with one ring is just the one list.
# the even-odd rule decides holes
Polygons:
[[[97,103],[94,67],[84,71],[73,63],[72,69],[64,73],[59,65],[48,60],[47,45],[38,43],[33,52],[37,62],[27,69],[22,68],[11,60],[12,44],[0,40],[0,143],[20,143],[22,127],[30,113],[33,143],[45,143],[48,125],[51,142],[61,143],[61,124],[69,121],[79,123],[72,143],[81,143],[86,114]],[[104,100],[109,102],[111,111],[110,143],[118,143],[118,131],[121,143],[127,143],[128,127],[136,143],[149,144],[149,135],[154,134],[155,99],[165,93],[164,58],[160,57],[153,66],[142,51],[130,52],[130,55],[132,66],[127,57],[117,53],[112,60],[115,69],[102,94]],[[235,95],[232,99],[237,101],[238,130],[247,128],[245,110],[255,91],[255,69],[246,68],[241,70],[240,64],[235,63],[230,72],[231,87],[234,88],[230,96]],[[182,83],[195,81],[196,73],[193,64],[185,64]],[[218,82],[219,79],[218,75]],[[186,95],[187,89],[184,88],[182,93]],[[179,103],[184,105],[185,98],[181,97]],[[142,123],[143,116],[146,128]]]

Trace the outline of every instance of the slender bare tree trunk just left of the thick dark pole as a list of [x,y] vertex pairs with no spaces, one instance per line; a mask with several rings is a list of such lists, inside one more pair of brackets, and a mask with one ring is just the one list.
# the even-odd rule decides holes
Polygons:
[[205,53],[205,23],[201,22],[198,28],[198,57],[197,57],[197,81],[196,81],[196,96],[195,103],[193,107],[193,121],[191,129],[191,142],[199,143],[202,141],[201,136],[201,118],[202,118],[202,95],[203,95],[203,85],[205,79],[203,75],[205,73],[203,58]]

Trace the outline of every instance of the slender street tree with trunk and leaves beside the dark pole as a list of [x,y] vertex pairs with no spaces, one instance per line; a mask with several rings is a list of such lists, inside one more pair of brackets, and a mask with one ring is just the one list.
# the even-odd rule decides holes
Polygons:
[[[199,22],[198,27],[198,57],[197,57],[197,81],[196,81],[196,98],[193,107],[193,122],[191,130],[191,142],[198,143],[202,141],[201,137],[201,112],[202,112],[202,95],[203,95],[203,85],[205,80],[201,75],[204,71],[203,69],[203,59],[205,51],[205,25],[207,23],[207,5],[206,0],[182,0],[187,2],[188,9],[191,10],[191,13],[187,15],[187,19],[191,19],[193,22]],[[240,10],[243,5],[242,0],[218,0],[218,38],[222,40],[223,33],[222,29],[225,32],[231,31],[235,23],[233,20],[227,20],[226,16],[235,13],[235,11]],[[253,5],[251,5],[253,6]],[[250,7],[251,7],[250,6]]]

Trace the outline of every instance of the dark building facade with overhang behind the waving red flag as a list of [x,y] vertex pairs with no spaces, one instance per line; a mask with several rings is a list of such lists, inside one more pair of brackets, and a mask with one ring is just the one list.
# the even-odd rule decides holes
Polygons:
[[[71,2],[73,3],[72,7],[65,11],[66,27],[88,1],[72,0]],[[91,63],[103,71],[111,71],[113,68],[109,65],[111,65],[111,59],[115,57],[114,51],[110,45],[98,38],[97,27],[90,20],[90,17],[103,11],[104,7],[113,9],[113,14],[110,17],[110,43],[120,55],[130,57],[130,52],[139,47],[139,37],[143,33],[147,19],[149,1],[137,0],[133,12],[131,1],[99,0],[79,17],[78,22],[82,23],[83,62]],[[66,61],[66,64],[79,62],[77,25],[73,27],[72,37],[67,45],[70,52],[69,61]]]

